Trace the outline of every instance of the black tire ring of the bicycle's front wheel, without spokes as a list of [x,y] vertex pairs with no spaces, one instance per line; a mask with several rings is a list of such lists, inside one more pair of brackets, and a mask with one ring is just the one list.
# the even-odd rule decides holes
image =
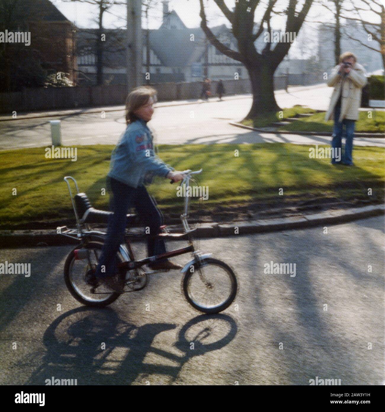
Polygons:
[[[224,269],[227,275],[229,276],[230,283],[231,283],[231,287],[230,287],[231,290],[230,290],[230,294],[227,297],[227,299],[221,304],[218,304],[214,307],[204,307],[202,305],[197,304],[197,302],[195,302],[189,294],[189,283],[190,283],[192,276],[194,275],[194,272],[196,270],[199,270],[199,267],[203,267],[207,265],[216,265]],[[231,269],[231,267],[227,265],[225,262],[222,262],[221,260],[214,259],[214,258],[203,259],[200,262],[195,262],[191,266],[194,267],[193,273],[186,272],[185,276],[182,279],[183,293],[188,303],[190,303],[190,305],[194,307],[195,309],[197,309],[198,311],[206,313],[206,314],[216,314],[216,313],[222,312],[225,309],[227,309],[234,301],[235,296],[237,295],[237,290],[238,290],[237,277],[235,276],[234,271]]]

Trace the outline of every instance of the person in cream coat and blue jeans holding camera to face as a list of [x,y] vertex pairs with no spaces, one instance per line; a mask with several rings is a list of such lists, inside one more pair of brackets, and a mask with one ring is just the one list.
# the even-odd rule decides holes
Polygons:
[[[329,109],[325,115],[326,121],[334,119],[332,164],[353,166],[352,151],[355,121],[359,116],[361,91],[366,82],[365,69],[357,63],[357,57],[351,52],[341,54],[339,65],[332,70],[332,74],[327,81],[329,87],[334,87]],[[337,153],[341,153],[343,129],[345,129],[346,140],[345,149],[340,157]],[[336,158],[339,160],[336,161]]]

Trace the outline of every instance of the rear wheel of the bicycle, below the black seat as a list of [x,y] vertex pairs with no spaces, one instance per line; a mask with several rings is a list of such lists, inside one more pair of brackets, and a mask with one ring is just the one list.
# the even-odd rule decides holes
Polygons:
[[[93,288],[90,269],[95,269],[102,253],[103,243],[89,242],[87,245],[77,246],[70,252],[64,265],[64,280],[71,295],[80,303],[90,307],[104,307],[114,302],[120,296],[119,293],[111,292],[105,286]],[[88,259],[75,259],[74,251],[77,249],[87,249],[89,252]],[[124,259],[120,253],[117,254],[118,262]],[[117,281],[125,282],[125,273],[115,275]]]

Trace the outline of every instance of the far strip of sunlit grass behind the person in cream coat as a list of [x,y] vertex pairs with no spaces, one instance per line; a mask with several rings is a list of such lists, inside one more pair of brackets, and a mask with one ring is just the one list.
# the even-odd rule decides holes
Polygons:
[[[359,119],[356,122],[355,131],[361,132],[385,132],[385,112],[371,111],[372,118],[368,117],[368,112],[359,112]],[[278,127],[278,131],[333,131],[333,121],[325,122],[325,112],[315,113],[312,116],[304,117],[285,126]]]

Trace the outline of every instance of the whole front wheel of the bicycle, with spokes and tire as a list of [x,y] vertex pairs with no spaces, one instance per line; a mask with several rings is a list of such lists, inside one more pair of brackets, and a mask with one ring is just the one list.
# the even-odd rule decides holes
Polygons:
[[237,295],[237,278],[224,262],[206,258],[190,266],[182,280],[183,293],[195,309],[219,313],[229,307]]

